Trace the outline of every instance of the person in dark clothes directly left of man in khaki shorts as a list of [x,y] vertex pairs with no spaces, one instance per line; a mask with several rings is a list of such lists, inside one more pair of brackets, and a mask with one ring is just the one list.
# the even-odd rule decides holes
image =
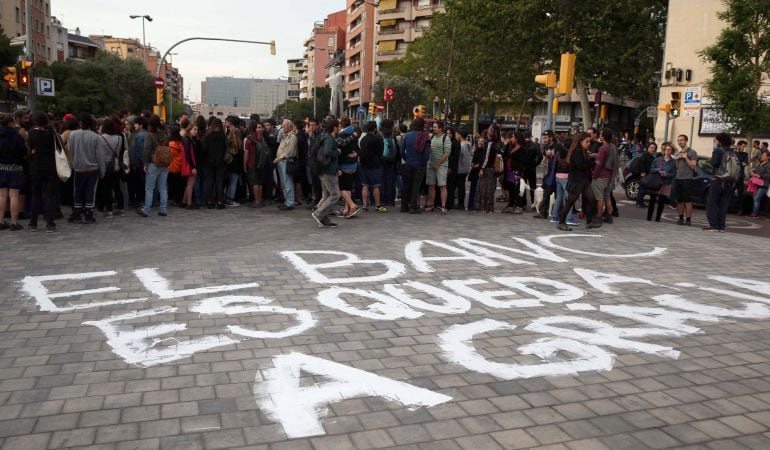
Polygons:
[[401,193],[401,212],[419,214],[420,187],[431,152],[430,134],[425,131],[425,120],[412,121],[411,131],[404,135],[401,154],[404,157],[404,190]]

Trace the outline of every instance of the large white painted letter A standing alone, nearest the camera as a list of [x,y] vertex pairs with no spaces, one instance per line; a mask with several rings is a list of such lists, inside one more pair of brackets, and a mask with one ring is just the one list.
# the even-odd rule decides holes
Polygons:
[[[263,371],[264,381],[256,381],[254,394],[260,409],[292,439],[325,434],[321,419],[328,413],[329,403],[376,396],[416,408],[452,400],[448,395],[302,353],[278,355],[273,366]],[[302,387],[302,372],[332,381]]]

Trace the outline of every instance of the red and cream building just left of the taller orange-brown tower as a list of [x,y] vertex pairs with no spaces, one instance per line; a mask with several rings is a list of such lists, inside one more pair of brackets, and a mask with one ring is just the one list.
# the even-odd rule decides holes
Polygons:
[[313,98],[314,90],[329,84],[329,62],[345,49],[347,10],[329,14],[316,22],[305,40],[305,71],[300,80],[300,98]]

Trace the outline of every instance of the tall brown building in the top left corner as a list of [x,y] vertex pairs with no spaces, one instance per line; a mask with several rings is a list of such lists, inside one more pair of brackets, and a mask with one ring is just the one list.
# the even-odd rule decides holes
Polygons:
[[[25,0],[0,1],[0,25],[5,35],[26,45],[27,15]],[[56,61],[55,46],[51,30],[51,3],[48,0],[32,0],[32,60],[35,62]],[[16,39],[14,39],[16,38]],[[19,39],[21,38],[21,39]]]

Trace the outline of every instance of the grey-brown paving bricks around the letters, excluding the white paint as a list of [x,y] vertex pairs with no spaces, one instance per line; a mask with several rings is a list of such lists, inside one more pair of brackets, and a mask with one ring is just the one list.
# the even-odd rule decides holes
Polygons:
[[[575,315],[619,327],[645,325],[598,311],[568,311],[563,304],[493,309],[473,302],[465,314],[425,312],[417,319],[396,321],[364,319],[325,307],[316,298],[325,286],[307,281],[278,252],[337,250],[405,262],[404,245],[413,239],[448,242],[467,237],[512,245],[511,236],[535,240],[557,234],[553,225],[529,215],[457,211],[446,217],[362,213],[360,218],[340,222],[336,230],[319,230],[304,210],[286,214],[245,208],[171,210],[166,219],[128,216],[90,227],[62,224],[54,235],[0,233],[4,250],[0,449],[770,448],[768,320],[720,319],[694,323],[702,329],[698,334],[639,339],[672,346],[681,351],[678,359],[612,349],[616,358],[610,371],[502,380],[447,362],[437,335],[452,325],[483,318],[516,324],[513,332],[477,335],[473,344],[494,361],[537,364],[542,363],[539,358],[517,351],[542,337],[523,330],[534,318]],[[407,274],[395,282],[408,279],[440,286],[447,279],[544,277],[586,290],[581,303],[651,307],[655,306],[652,296],[670,291],[660,286],[618,285],[620,295],[603,294],[571,268],[640,276],[666,286],[679,282],[719,286],[707,275],[761,280],[770,272],[770,247],[762,238],[704,234],[631,219],[589,232],[604,238],[560,243],[600,252],[633,253],[653,246],[669,250],[650,259],[600,259],[555,250],[569,262],[503,263],[496,268],[467,261],[437,262],[433,273],[408,267]],[[178,340],[228,335],[227,325],[278,331],[295,324],[286,315],[194,313],[189,307],[206,295],[162,300],[131,272],[140,268],[158,268],[172,280],[173,289],[257,282],[258,288],[233,295],[259,295],[275,305],[306,309],[318,323],[298,336],[244,340],[152,367],[127,364],[113,353],[98,328],[83,322],[173,306],[178,308],[175,312],[151,321],[185,323],[187,329],[175,336]],[[117,274],[108,279],[51,281],[46,286],[51,292],[62,292],[109,282],[121,289],[57,299],[61,305],[149,300],[51,313],[39,311],[33,300],[19,293],[18,282],[26,275],[108,270]],[[377,270],[367,268],[362,274]],[[326,273],[350,276],[350,272]],[[378,290],[381,286],[355,287]],[[726,308],[737,308],[740,302],[707,292],[689,298]],[[351,302],[364,305],[360,300]],[[322,419],[325,435],[288,439],[281,425],[259,409],[253,389],[264,371],[272,368],[272,358],[290,352],[407,382],[452,400],[410,410],[378,397],[346,399],[329,405]]]

